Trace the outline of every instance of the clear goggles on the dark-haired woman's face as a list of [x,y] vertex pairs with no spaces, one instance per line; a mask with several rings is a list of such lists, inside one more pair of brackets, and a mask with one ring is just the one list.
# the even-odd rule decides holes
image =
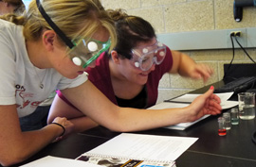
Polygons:
[[166,46],[161,42],[155,42],[154,45],[139,47],[132,50],[131,59],[137,68],[142,71],[148,71],[152,65],[160,64],[166,56]]

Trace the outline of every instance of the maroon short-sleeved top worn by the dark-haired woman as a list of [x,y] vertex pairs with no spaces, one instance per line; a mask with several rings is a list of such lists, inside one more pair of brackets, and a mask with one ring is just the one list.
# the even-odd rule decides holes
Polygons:
[[[86,72],[89,74],[88,79],[103,93],[105,96],[118,105],[116,96],[111,83],[111,76],[109,70],[109,58],[107,53],[102,53],[99,58],[96,59],[96,66],[94,68],[87,68]],[[155,71],[151,72],[148,76],[148,82],[146,83],[147,102],[146,108],[150,108],[155,105],[158,96],[158,84],[160,79],[165,73],[168,73],[173,67],[173,56],[171,50],[167,47],[167,54],[163,62],[159,65],[155,65]],[[71,105],[65,98],[62,92],[57,92],[60,98],[62,98],[67,104]]]

